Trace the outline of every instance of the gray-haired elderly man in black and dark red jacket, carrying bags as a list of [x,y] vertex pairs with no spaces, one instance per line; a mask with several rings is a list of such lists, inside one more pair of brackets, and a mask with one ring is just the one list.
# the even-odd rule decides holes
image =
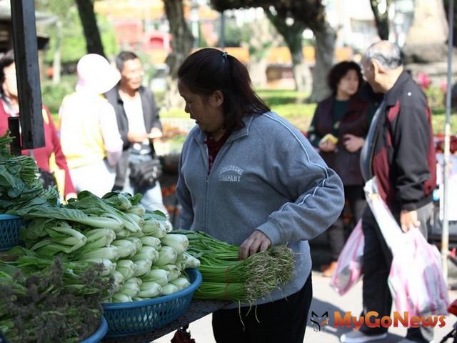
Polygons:
[[[436,157],[426,95],[403,69],[396,44],[379,41],[371,45],[363,56],[362,69],[373,91],[384,94],[361,151],[363,179],[376,177],[379,193],[403,232],[418,229],[427,237],[433,212],[432,192],[436,187]],[[387,279],[392,254],[368,207],[362,222],[362,315],[376,311],[381,318],[391,314]],[[358,331],[343,334],[340,340],[363,343],[386,336],[387,328],[364,324]],[[409,328],[400,342],[432,340],[433,328],[421,326]]]

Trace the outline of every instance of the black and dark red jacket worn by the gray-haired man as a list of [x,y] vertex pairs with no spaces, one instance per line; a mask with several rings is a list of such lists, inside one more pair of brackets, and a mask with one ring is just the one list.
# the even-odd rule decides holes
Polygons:
[[371,162],[383,200],[393,212],[428,204],[436,187],[436,156],[426,95],[403,71],[384,97]]

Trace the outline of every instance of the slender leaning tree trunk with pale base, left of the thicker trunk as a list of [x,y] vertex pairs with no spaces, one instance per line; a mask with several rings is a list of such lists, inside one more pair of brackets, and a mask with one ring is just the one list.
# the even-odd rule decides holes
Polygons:
[[265,9],[266,16],[283,36],[284,41],[291,52],[293,79],[297,91],[311,91],[311,71],[303,58],[303,30],[305,25],[300,21],[294,21],[292,25],[286,24],[286,15],[273,14],[269,8]]

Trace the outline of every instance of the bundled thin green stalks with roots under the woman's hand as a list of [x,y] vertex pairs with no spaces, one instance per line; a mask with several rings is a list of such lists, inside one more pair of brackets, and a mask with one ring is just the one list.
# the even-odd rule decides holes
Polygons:
[[293,277],[295,255],[285,245],[238,257],[239,247],[221,242],[204,232],[176,231],[189,239],[189,254],[201,262],[203,282],[196,299],[227,299],[252,304]]

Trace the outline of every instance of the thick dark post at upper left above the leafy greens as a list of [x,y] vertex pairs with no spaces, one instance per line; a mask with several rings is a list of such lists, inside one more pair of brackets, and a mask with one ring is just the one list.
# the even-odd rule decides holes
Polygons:
[[22,149],[44,146],[34,0],[11,0]]

